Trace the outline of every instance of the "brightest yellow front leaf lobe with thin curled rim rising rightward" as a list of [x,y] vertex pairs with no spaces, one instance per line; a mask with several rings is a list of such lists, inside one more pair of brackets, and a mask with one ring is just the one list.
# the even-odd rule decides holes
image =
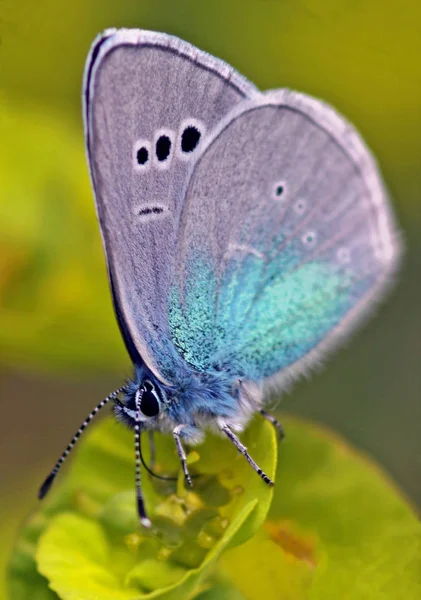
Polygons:
[[[156,568],[158,561],[144,559],[127,577],[129,586],[124,585],[115,572],[115,548],[101,526],[71,513],[61,514],[52,521],[41,537],[37,562],[50,586],[63,600],[184,600],[197,588],[206,571],[254,508],[255,502],[250,502],[236,515],[226,535],[198,568],[186,571],[164,563],[155,573],[148,573],[147,569]],[[164,574],[163,580],[160,574]],[[140,583],[145,593],[139,593],[139,589],[134,587],[136,583]]]

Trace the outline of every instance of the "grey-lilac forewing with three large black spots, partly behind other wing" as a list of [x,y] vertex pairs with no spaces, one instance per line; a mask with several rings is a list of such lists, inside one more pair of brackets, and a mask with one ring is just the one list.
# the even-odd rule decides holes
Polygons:
[[87,151],[116,313],[132,359],[163,381],[181,360],[166,310],[187,175],[221,119],[259,95],[165,34],[110,30],[91,49]]

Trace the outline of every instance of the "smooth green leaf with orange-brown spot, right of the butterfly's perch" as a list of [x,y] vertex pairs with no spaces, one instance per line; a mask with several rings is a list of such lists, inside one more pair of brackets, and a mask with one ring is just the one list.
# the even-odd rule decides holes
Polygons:
[[269,519],[221,561],[248,600],[421,597],[421,524],[371,460],[284,418]]

